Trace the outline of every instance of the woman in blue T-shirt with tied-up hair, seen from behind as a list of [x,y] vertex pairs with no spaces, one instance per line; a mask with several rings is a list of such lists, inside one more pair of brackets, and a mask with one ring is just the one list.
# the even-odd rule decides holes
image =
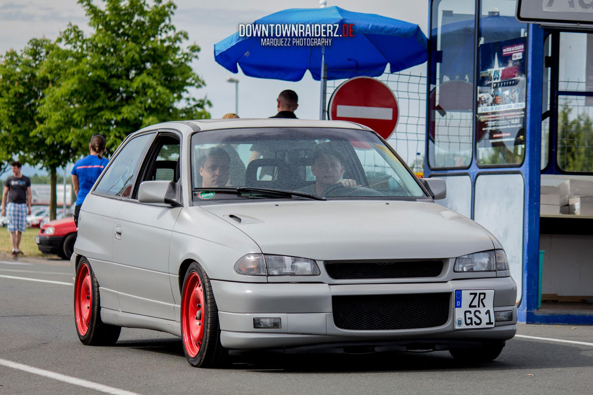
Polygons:
[[103,158],[105,152],[106,140],[102,134],[94,134],[91,142],[88,144],[90,154],[74,163],[72,168],[72,187],[76,194],[76,206],[74,208],[74,222],[78,226],[78,215],[84,198],[101,175],[101,172],[109,163],[109,160]]

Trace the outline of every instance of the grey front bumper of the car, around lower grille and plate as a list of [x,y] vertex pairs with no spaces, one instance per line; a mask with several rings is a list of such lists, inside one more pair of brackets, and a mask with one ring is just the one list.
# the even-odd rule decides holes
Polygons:
[[[262,349],[327,343],[391,344],[400,349],[448,349],[505,341],[517,332],[517,286],[510,277],[422,284],[243,283],[211,280],[219,310],[221,343],[229,349]],[[512,311],[512,320],[484,329],[454,329],[456,289],[494,289],[494,311]],[[418,329],[348,330],[337,327],[334,296],[449,293],[444,325]],[[280,318],[279,329],[254,329],[254,318]],[[406,319],[406,317],[402,317]]]

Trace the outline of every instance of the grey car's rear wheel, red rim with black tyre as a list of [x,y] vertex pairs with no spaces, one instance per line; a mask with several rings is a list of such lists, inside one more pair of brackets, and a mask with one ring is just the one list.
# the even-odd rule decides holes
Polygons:
[[87,258],[82,258],[76,269],[74,324],[78,339],[87,346],[113,345],[122,330],[120,326],[107,325],[101,321],[99,283]]

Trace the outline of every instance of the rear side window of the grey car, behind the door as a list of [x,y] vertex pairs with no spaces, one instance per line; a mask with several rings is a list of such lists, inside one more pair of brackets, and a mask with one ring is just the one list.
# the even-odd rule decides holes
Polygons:
[[143,134],[127,142],[101,177],[95,192],[130,197],[140,160],[153,138],[154,133]]

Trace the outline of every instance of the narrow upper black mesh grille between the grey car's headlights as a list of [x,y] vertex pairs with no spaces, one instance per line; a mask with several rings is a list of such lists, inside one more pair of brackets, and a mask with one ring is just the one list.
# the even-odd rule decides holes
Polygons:
[[336,280],[438,277],[442,269],[442,261],[326,262],[327,274]]

